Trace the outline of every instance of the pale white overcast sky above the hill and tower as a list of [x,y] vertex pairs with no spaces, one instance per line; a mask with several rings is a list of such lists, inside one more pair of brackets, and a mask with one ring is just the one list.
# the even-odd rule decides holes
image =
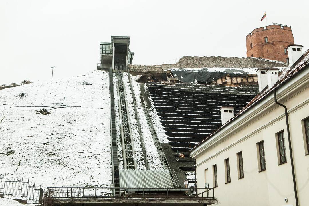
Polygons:
[[245,57],[246,36],[267,23],[292,27],[309,48],[309,1],[0,0],[0,84],[96,70],[99,42],[131,36],[133,64],[180,57]]

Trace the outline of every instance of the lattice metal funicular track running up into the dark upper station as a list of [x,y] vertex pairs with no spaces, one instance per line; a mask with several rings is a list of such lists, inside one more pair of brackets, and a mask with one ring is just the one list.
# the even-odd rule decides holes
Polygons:
[[127,104],[127,97],[125,93],[125,84],[123,82],[123,73],[120,63],[116,63],[116,78],[117,78],[117,93],[118,93],[118,105],[119,105],[119,116],[120,116],[120,132],[121,132],[121,143],[123,162],[125,170],[136,170],[136,160],[133,145],[133,137],[131,132],[131,124],[129,118],[129,110]]

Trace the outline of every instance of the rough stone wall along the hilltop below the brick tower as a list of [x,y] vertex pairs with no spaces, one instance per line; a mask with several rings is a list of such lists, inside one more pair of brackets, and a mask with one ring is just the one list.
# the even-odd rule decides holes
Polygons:
[[281,61],[273,61],[252,57],[182,57],[175,64],[162,65],[129,65],[132,71],[160,72],[170,68],[202,68],[202,67],[281,67],[288,64]]

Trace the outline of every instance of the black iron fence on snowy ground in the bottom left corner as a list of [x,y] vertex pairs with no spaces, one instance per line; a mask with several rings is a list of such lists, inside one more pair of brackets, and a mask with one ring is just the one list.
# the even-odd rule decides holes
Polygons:
[[6,179],[5,174],[0,174],[0,194],[4,198],[22,200],[27,204],[40,204],[43,189],[29,184],[29,180]]

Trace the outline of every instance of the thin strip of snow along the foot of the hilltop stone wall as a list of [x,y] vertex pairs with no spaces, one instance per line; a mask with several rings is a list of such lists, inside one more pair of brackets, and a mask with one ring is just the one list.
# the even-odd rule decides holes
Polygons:
[[[276,67],[279,71],[283,71],[286,67]],[[222,73],[234,73],[234,74],[243,74],[243,72],[247,74],[256,74],[256,70],[259,67],[240,67],[240,68],[232,68],[232,67],[202,67],[202,68],[171,68],[170,70],[175,71],[199,71],[206,70],[208,72],[222,72]],[[167,71],[167,70],[164,70]],[[243,72],[241,72],[243,71]]]

